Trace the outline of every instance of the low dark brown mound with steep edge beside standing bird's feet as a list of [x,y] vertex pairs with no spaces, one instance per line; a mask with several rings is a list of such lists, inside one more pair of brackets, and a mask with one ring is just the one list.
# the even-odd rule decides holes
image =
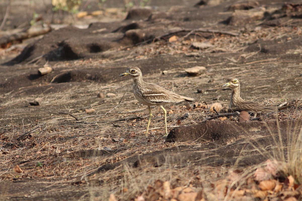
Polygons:
[[[301,122],[297,122],[297,125]],[[295,122],[296,124],[296,122]],[[278,127],[279,126],[279,127]],[[291,121],[263,122],[263,121],[247,121],[247,122],[233,122],[233,121],[206,121],[204,123],[193,126],[182,126],[174,128],[167,136],[166,142],[186,142],[186,141],[201,141],[224,144],[232,140],[236,141],[242,137],[267,135],[269,132],[282,133],[291,132],[297,129],[293,126]]]

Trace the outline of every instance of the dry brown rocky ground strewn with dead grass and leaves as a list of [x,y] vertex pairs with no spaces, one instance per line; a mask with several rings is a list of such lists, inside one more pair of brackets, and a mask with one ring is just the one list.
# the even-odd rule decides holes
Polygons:
[[[3,19],[7,2],[0,2]],[[82,9],[98,9],[90,3]],[[92,24],[2,45],[1,200],[299,200],[299,3],[149,1],[127,14],[120,1],[107,1],[103,15],[76,22],[66,13],[51,16],[51,5],[36,5],[48,24],[51,18]],[[32,18],[20,18],[24,10],[33,5],[15,6],[3,30],[27,26]],[[37,70],[46,62],[53,71],[41,76]],[[168,137],[161,108],[152,108],[146,136],[148,109],[133,96],[132,80],[118,77],[130,66],[141,68],[144,81],[195,98],[201,107],[166,105]],[[189,76],[185,69],[194,66],[206,72]],[[215,102],[226,112],[230,90],[221,86],[228,77],[241,80],[246,100],[289,107],[260,121],[206,121],[216,116],[209,110]],[[40,105],[29,104],[35,98]],[[271,191],[258,186],[265,179],[255,171],[268,167],[268,159],[278,161],[271,179],[282,190],[276,183]]]

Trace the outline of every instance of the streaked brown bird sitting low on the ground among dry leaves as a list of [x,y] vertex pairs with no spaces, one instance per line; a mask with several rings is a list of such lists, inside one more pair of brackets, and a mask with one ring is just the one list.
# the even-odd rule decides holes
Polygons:
[[255,102],[245,101],[240,97],[240,81],[237,78],[232,77],[226,79],[226,82],[227,83],[225,83],[222,87],[227,86],[232,90],[231,98],[230,98],[230,108],[228,109],[228,112],[251,111],[254,113],[254,118],[255,118],[257,112],[272,112],[288,107],[288,105],[281,106],[281,107],[265,107]]

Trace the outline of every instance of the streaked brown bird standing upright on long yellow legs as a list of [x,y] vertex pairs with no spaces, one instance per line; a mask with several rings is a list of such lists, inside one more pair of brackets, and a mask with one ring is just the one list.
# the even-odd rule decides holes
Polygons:
[[142,104],[147,105],[149,109],[149,121],[147,125],[146,134],[149,130],[150,121],[152,118],[152,112],[150,105],[157,105],[162,108],[165,114],[165,130],[166,134],[168,135],[167,131],[167,111],[163,107],[163,105],[170,103],[170,102],[181,102],[181,101],[189,101],[192,102],[195,99],[188,98],[185,96],[180,96],[176,93],[168,91],[161,86],[156,84],[151,84],[148,82],[143,81],[142,72],[137,67],[129,67],[127,68],[126,73],[120,74],[121,76],[130,76],[133,79],[133,93],[135,98]]

